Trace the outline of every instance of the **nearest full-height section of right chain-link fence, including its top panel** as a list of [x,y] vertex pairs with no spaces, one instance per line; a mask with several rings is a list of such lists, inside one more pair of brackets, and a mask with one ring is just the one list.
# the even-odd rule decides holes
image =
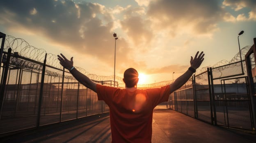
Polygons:
[[247,72],[243,62],[213,68],[211,74],[216,124],[253,130]]

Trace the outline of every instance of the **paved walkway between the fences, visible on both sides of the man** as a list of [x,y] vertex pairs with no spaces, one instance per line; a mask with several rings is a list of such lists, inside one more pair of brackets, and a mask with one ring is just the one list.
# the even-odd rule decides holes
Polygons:
[[[108,114],[80,118],[5,137],[0,142],[110,143],[109,120]],[[256,143],[256,134],[237,134],[165,107],[155,108],[152,126],[152,143]]]

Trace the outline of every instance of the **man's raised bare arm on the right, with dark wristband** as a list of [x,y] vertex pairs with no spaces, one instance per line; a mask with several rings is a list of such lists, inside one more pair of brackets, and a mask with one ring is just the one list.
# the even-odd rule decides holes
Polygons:
[[174,92],[175,90],[179,89],[182,85],[184,85],[187,82],[187,80],[190,79],[190,77],[194,73],[193,69],[195,71],[198,67],[200,67],[201,63],[204,60],[204,58],[203,58],[204,54],[203,54],[203,51],[199,54],[199,56],[198,56],[198,54],[199,54],[199,51],[197,51],[197,54],[194,56],[194,58],[191,56],[190,68],[192,68],[192,69],[187,69],[187,71],[185,71],[185,73],[183,75],[178,77],[174,81],[174,83],[170,84],[171,93]]

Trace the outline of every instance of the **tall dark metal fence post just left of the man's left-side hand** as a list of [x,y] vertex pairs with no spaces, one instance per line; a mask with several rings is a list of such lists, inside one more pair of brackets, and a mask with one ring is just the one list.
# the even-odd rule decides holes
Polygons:
[[40,92],[39,92],[39,105],[38,105],[38,114],[37,114],[37,127],[40,125],[40,116],[41,116],[41,106],[42,106],[42,99],[43,99],[43,84],[44,84],[44,75],[45,75],[45,69],[46,69],[46,57],[47,53],[45,55],[44,61],[43,61],[43,69],[42,69],[42,76],[41,76],[41,85],[40,85]]

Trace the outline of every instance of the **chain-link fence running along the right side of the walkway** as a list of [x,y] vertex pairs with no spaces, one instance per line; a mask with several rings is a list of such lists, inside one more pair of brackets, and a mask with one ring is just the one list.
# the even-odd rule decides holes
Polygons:
[[207,123],[254,130],[245,61],[194,75],[170,95],[167,104]]

